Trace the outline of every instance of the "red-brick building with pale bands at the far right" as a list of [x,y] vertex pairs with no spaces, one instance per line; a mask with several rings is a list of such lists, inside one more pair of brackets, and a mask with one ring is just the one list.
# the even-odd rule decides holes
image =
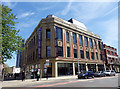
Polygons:
[[104,46],[106,70],[115,70],[120,72],[120,61],[117,55],[117,49],[106,44]]

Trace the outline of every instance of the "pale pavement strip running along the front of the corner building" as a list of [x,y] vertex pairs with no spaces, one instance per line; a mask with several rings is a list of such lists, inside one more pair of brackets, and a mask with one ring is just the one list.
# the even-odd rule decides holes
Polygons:
[[57,81],[57,80],[68,80],[68,79],[77,79],[77,76],[61,76],[61,77],[51,77],[51,78],[41,78],[39,81],[37,79],[25,79],[25,81],[22,80],[10,80],[10,81],[3,81],[0,84],[2,84],[2,87],[16,87],[19,85],[23,86],[28,83],[43,83],[43,82],[50,82],[50,81]]

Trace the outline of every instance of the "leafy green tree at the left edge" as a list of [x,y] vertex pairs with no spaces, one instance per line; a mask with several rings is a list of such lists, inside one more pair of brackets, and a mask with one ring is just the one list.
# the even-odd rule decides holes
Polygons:
[[15,28],[15,24],[18,23],[16,20],[16,15],[12,13],[12,9],[2,5],[2,62],[11,59],[13,52],[23,50],[21,48],[22,37],[18,34],[20,30]]

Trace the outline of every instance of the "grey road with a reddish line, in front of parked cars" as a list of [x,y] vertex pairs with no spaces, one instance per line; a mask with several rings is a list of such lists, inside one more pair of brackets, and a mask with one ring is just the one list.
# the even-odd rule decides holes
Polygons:
[[3,87],[118,87],[118,75],[97,78],[95,77],[94,79],[77,79],[77,77],[75,77],[71,79],[42,80],[31,82],[18,81],[16,84],[9,84],[9,86],[3,83]]

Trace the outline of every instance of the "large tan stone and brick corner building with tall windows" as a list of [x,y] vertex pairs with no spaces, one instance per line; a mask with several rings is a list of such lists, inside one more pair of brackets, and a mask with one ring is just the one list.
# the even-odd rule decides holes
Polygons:
[[40,68],[44,77],[46,60],[50,65],[48,75],[52,77],[104,70],[101,38],[77,20],[48,15],[26,40],[22,69],[29,72]]

